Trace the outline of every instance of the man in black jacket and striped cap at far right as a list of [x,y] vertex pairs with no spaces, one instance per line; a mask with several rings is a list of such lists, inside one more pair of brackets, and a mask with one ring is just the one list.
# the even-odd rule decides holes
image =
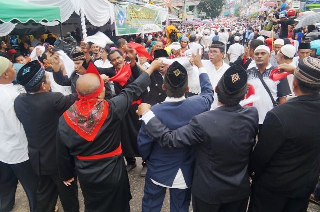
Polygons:
[[294,73],[297,97],[266,114],[249,172],[250,212],[306,212],[320,173],[320,60]]

